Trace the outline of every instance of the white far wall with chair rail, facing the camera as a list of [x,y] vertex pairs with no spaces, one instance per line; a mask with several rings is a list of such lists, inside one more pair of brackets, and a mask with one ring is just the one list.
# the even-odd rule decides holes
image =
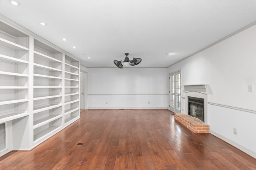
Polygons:
[[166,109],[167,98],[167,68],[88,68],[88,109]]

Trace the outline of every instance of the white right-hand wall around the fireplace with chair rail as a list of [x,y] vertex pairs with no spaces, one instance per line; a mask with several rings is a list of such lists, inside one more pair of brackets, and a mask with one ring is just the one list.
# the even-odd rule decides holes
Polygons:
[[209,84],[210,133],[256,158],[256,25],[170,66],[168,73],[176,70],[182,85]]

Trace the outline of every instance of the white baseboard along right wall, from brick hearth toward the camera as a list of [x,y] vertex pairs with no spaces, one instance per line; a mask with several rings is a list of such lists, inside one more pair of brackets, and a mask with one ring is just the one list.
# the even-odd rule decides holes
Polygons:
[[214,135],[214,136],[216,136],[216,137],[222,139],[223,141],[229,143],[230,145],[236,147],[237,149],[242,150],[243,152],[247,153],[248,155],[250,155],[250,156],[256,158],[256,152],[254,152],[254,151],[252,151],[252,150],[250,150],[250,149],[247,149],[246,147],[243,147],[242,145],[239,145],[238,143],[236,143],[236,142],[234,142],[234,141],[232,141],[232,140],[230,140],[230,139],[228,139],[228,138],[226,138],[226,137],[220,135],[219,133],[216,133],[215,131],[210,130],[210,133],[211,133],[212,135]]

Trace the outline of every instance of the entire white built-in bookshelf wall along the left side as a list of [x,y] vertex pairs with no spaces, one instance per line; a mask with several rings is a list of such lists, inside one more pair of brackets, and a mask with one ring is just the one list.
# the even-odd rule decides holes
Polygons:
[[4,16],[0,19],[2,156],[31,150],[80,118],[80,62]]

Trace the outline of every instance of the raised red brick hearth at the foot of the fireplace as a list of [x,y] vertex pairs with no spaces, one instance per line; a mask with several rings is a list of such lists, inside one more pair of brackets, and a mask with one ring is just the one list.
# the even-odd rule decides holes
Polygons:
[[209,133],[210,126],[204,124],[203,121],[186,114],[175,113],[174,119],[186,126],[190,131],[194,133]]

